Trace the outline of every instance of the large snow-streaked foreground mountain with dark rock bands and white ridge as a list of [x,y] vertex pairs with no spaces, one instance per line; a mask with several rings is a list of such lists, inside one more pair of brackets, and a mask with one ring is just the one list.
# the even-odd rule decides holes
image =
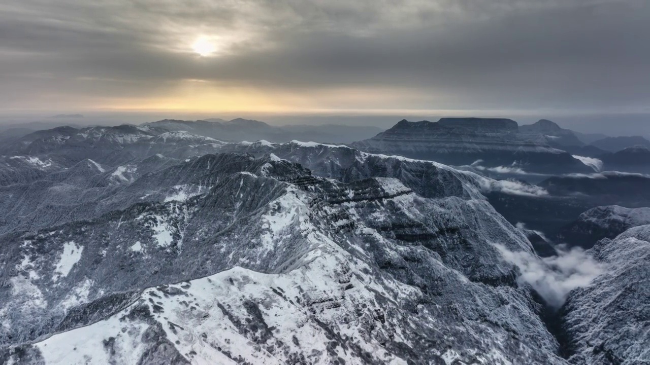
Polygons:
[[395,177],[343,183],[274,155],[161,172],[129,187],[200,193],[5,235],[6,356],[561,363],[491,242],[530,244],[466,181],[434,199]]

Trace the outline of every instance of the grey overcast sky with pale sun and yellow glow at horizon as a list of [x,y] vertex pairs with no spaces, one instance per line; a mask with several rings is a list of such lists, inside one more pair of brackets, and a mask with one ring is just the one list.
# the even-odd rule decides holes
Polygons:
[[10,0],[0,111],[643,115],[649,45],[648,0]]

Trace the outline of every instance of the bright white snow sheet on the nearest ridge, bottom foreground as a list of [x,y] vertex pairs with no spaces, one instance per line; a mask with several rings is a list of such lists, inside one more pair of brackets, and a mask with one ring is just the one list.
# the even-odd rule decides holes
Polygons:
[[[160,323],[170,346],[193,364],[235,364],[224,354],[232,354],[249,364],[285,364],[294,352],[311,353],[313,363],[326,363],[329,334],[313,317],[324,323],[337,323],[344,321],[341,316],[346,310],[361,310],[363,305],[367,308],[363,310],[363,318],[373,318],[382,313],[375,292],[387,295],[376,279],[363,275],[361,268],[348,267],[352,263],[341,257],[340,249],[336,250],[313,252],[309,264],[289,273],[268,274],[235,267],[189,283],[166,286],[182,292],[181,296],[161,297],[156,294],[157,288],[149,288],[137,303],[114,316],[55,334],[34,346],[46,363],[107,364],[114,360],[119,364],[135,364],[146,351],[142,336],[151,323],[129,319],[128,314],[136,307],[147,307],[153,314],[151,321]],[[363,277],[344,274],[341,268],[346,273],[362,273]],[[349,282],[349,288],[343,289],[338,282],[343,279]],[[395,290],[400,295],[416,295],[409,286]],[[291,301],[294,298],[311,303],[317,314],[305,311],[301,302]],[[344,310],[333,303],[345,306]],[[153,309],[154,305],[158,310]],[[264,336],[266,331],[272,331],[283,351],[261,350],[240,332],[232,318],[251,318],[251,310],[256,313],[253,320],[255,315],[263,320],[259,333]],[[354,341],[361,350],[372,353],[380,363],[406,364],[383,349],[378,341],[364,338],[354,322],[341,325],[336,331]],[[377,331],[383,333],[381,327]],[[396,341],[407,342],[400,331],[393,335]],[[114,342],[112,359],[105,349],[109,338]],[[337,349],[337,355],[348,364],[358,360],[352,351]]]

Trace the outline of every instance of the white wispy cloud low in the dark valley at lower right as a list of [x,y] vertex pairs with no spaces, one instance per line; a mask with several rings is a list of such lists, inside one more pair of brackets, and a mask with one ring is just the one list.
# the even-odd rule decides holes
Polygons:
[[504,260],[519,268],[519,281],[530,284],[553,308],[562,307],[571,290],[589,286],[606,271],[603,263],[579,247],[558,249],[557,256],[540,258],[525,251],[510,251],[500,244],[495,246]]

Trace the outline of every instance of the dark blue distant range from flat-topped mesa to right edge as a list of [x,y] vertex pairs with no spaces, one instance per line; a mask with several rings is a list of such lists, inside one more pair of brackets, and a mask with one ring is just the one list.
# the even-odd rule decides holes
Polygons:
[[[580,140],[584,137],[549,120],[520,126],[513,120],[495,118],[443,118],[437,122],[402,120],[377,136],[351,145],[370,153],[434,160],[532,181],[538,181],[535,175],[539,174],[650,172],[645,144],[612,153],[595,145],[607,145],[608,138],[586,144]],[[643,142],[640,137],[616,140],[621,147]]]

